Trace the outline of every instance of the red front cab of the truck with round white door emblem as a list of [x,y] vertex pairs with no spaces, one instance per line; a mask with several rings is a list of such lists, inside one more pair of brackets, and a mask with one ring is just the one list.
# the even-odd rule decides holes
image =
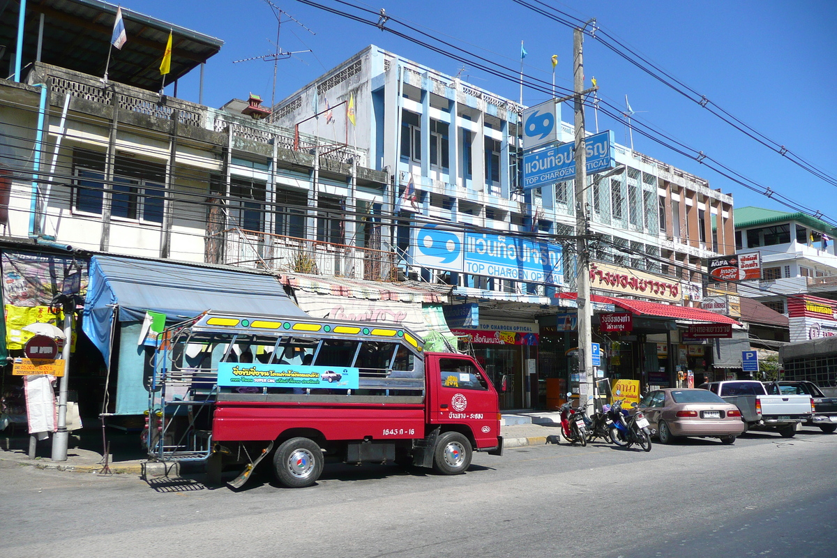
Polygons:
[[467,356],[430,354],[425,366],[431,391],[430,422],[465,425],[474,434],[477,448],[495,447],[500,435],[499,407],[497,392],[485,372]]

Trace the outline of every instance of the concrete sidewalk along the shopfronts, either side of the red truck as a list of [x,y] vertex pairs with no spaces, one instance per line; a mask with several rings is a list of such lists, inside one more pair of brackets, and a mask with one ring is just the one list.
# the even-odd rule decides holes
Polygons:
[[[516,412],[503,415],[501,435],[504,448],[547,443],[547,436],[560,432],[557,412]],[[143,474],[146,453],[140,446],[139,433],[109,432],[110,457],[108,467],[112,474]],[[67,460],[53,461],[52,438],[38,443],[36,458],[28,458],[28,435],[3,436],[0,434],[0,461],[8,461],[37,468],[57,469],[75,473],[103,474],[104,453],[101,451],[101,431],[85,429],[79,435],[70,436]],[[155,469],[160,469],[157,466]],[[157,474],[155,474],[157,476]]]

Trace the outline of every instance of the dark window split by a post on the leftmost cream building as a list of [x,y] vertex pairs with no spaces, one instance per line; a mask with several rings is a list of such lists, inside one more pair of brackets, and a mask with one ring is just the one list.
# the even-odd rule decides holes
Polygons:
[[[73,209],[101,215],[105,193],[105,154],[84,149],[73,152]],[[116,156],[110,215],[162,223],[165,166]]]

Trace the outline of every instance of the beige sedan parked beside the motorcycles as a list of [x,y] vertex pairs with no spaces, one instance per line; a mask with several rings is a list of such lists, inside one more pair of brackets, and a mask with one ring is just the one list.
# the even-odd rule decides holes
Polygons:
[[637,410],[645,413],[660,443],[696,436],[730,444],[746,427],[738,407],[702,389],[656,390],[642,398]]

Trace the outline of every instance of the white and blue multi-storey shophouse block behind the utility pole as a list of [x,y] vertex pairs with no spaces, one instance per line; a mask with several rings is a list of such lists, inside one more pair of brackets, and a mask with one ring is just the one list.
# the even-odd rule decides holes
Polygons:
[[[490,268],[453,271],[420,257],[425,238],[416,231],[442,223],[494,243],[532,235],[562,243],[576,233],[572,181],[522,192],[521,105],[369,46],[274,109],[280,125],[357,146],[370,166],[387,172],[385,212],[396,216],[392,238],[404,273],[453,287],[448,325],[470,340],[490,373],[511,378],[506,407],[543,404],[547,378],[563,381],[562,392],[572,387],[578,378],[568,243],[563,280],[548,284]],[[559,141],[573,141],[571,125],[561,124]],[[734,250],[732,196],[623,146],[614,150],[618,166],[590,177],[588,187],[600,236],[593,292],[603,296],[598,310],[620,310],[633,320],[630,330],[599,330],[603,367],[653,385],[668,385],[691,368],[709,375],[706,346],[682,345],[679,330],[690,321],[732,321],[696,308],[702,260]]]

